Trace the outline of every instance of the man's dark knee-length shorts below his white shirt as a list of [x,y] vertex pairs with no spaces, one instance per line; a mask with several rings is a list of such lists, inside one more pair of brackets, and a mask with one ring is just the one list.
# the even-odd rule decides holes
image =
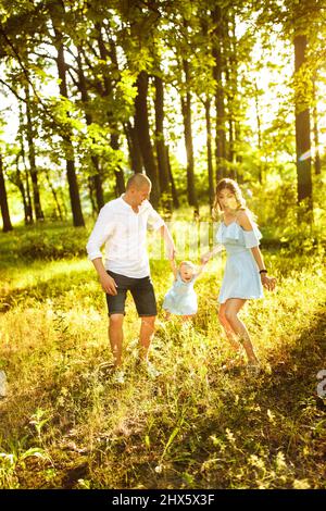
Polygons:
[[152,316],[158,314],[156,300],[153,284],[150,276],[143,278],[131,278],[118,273],[108,271],[117,285],[117,295],[106,294],[109,315],[125,314],[125,301],[127,291],[133,295],[138,315]]

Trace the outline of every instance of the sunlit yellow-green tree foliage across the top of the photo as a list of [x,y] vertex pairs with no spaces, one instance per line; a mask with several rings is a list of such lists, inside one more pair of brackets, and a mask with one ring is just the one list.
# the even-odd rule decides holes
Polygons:
[[[217,7],[223,26],[214,21]],[[317,105],[315,120],[318,116],[322,120],[324,113],[325,30],[318,1],[183,0],[153,5],[141,1],[91,4],[67,1],[64,8],[50,2],[39,9],[30,0],[4,1],[1,9],[3,87],[10,102],[17,101],[20,109],[20,115],[14,112],[20,117],[17,137],[10,139],[3,149],[5,176],[16,187],[23,184],[27,189],[25,170],[34,151],[45,211],[53,210],[53,199],[42,176],[49,162],[54,162],[58,174],[62,175],[64,160],[74,160],[85,212],[90,208],[89,176],[99,169],[103,188],[113,190],[114,171],[131,166],[128,149],[133,144],[127,128],[129,124],[133,126],[135,84],[140,71],[146,71],[150,80],[154,75],[163,79],[164,137],[171,146],[172,170],[181,202],[187,197],[186,164],[180,162],[177,142],[184,137],[180,95],[186,92],[191,96],[195,172],[202,201],[208,201],[203,103],[211,101],[214,154],[216,123],[221,122],[216,119],[220,92],[225,109],[225,120],[222,120],[227,141],[225,174],[237,175],[244,182],[264,182],[277,174],[286,187],[288,179],[294,186],[294,103],[299,110]],[[53,23],[60,32],[57,40],[50,28]],[[306,61],[293,76],[294,35],[306,36],[309,46]],[[59,42],[64,50],[67,98],[59,96]],[[33,141],[28,141],[26,129],[26,86],[30,95]],[[152,87],[148,107],[154,147]],[[113,135],[118,150],[111,147]],[[319,135],[322,146],[322,126]],[[98,159],[98,165],[93,164],[93,158]],[[214,157],[213,166],[215,172]],[[66,188],[63,192],[67,202],[66,177],[61,185]],[[30,183],[28,187],[33,190]],[[13,214],[18,208],[22,211],[21,196],[18,204],[13,187],[9,196],[11,211],[15,202]],[[48,210],[45,202],[51,202]]]

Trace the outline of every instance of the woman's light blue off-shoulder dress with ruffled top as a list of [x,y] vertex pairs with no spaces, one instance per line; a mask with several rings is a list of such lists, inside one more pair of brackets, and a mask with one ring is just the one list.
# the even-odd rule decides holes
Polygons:
[[263,286],[258,264],[251,248],[260,245],[262,234],[252,222],[252,230],[243,230],[235,221],[229,225],[220,224],[216,241],[224,245],[227,260],[218,295],[218,302],[229,298],[263,298]]

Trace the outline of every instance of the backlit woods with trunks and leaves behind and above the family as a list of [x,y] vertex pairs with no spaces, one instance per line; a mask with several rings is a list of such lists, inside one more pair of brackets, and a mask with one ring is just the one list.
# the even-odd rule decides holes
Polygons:
[[325,2],[2,0],[0,12],[4,232],[11,212],[83,226],[133,172],[166,215],[212,205],[227,176],[283,190],[313,221]]

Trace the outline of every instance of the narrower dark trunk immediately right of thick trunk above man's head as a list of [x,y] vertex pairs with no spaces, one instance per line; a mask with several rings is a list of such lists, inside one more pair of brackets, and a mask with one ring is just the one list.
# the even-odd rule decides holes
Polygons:
[[161,194],[171,194],[168,179],[167,152],[164,140],[164,87],[161,76],[154,77],[155,84],[155,144],[159,163]]

